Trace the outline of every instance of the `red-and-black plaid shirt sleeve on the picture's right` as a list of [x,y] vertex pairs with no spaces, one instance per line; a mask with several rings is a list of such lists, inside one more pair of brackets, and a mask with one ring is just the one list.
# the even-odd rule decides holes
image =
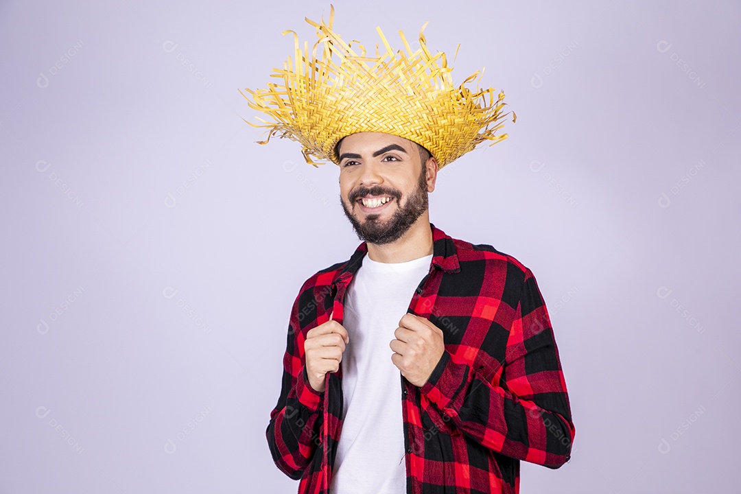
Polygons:
[[548,310],[530,270],[502,369],[474,370],[446,350],[420,391],[462,433],[496,453],[551,468],[571,458],[575,430],[566,383]]

